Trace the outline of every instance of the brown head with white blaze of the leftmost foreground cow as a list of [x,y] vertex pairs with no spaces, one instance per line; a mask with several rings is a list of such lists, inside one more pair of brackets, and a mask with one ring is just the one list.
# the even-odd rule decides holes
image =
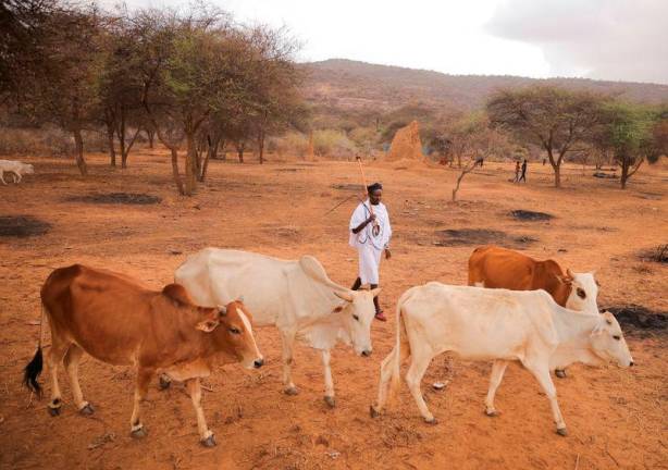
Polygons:
[[236,358],[246,369],[259,369],[264,359],[252,333],[252,316],[242,301],[206,308],[197,329],[211,335],[217,350]]

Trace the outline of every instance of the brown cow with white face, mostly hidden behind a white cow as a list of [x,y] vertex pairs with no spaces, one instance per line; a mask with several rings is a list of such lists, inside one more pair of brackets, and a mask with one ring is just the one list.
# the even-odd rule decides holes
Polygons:
[[[536,261],[520,252],[485,246],[475,248],[469,258],[469,285],[510,290],[546,290],[561,307],[598,312],[598,282],[594,273],[564,273],[559,263]],[[557,364],[555,373],[565,378]]]

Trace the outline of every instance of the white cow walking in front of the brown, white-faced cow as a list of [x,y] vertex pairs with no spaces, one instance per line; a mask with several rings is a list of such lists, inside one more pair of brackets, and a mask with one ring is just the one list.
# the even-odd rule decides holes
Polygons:
[[420,413],[435,422],[420,389],[430,361],[445,351],[465,360],[494,360],[485,412],[495,416],[494,394],[509,361],[519,361],[539,381],[552,406],[557,433],[566,423],[557,404],[549,370],[555,363],[620,367],[633,359],[615,317],[568,310],[544,290],[486,289],[428,283],[408,289],[397,304],[396,345],[383,360],[379,396],[371,406],[378,416],[387,398],[387,384],[396,385],[403,359],[410,356],[406,382]]

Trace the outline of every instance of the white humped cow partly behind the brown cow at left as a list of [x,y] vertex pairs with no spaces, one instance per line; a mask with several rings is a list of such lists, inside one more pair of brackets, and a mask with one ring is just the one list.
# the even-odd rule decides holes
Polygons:
[[310,256],[286,261],[268,256],[205,248],[190,256],[174,274],[195,299],[205,306],[243,297],[258,325],[275,325],[283,343],[283,384],[296,395],[290,364],[295,338],[320,349],[324,366],[325,403],[334,407],[330,350],[337,339],[355,352],[371,355],[371,322],[375,314],[373,290],[350,290],[327,277]]

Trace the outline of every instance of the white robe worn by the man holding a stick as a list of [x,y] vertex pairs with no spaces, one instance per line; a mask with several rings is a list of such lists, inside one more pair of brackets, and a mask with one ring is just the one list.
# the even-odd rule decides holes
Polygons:
[[359,277],[362,284],[379,284],[379,268],[383,250],[389,245],[392,237],[392,226],[389,225],[389,214],[385,205],[380,202],[378,206],[372,206],[375,220],[378,222],[379,232],[373,233],[373,223],[368,224],[358,234],[352,233],[352,228],[358,227],[362,222],[369,219],[370,202],[367,199],[360,202],[352,212],[350,218],[350,238],[349,245],[357,248],[359,255]]

